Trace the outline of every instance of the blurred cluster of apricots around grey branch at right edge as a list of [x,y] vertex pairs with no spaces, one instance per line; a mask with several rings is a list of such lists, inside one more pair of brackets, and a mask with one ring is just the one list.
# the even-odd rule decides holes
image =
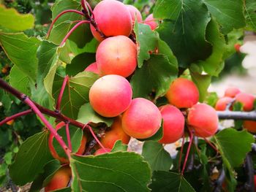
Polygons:
[[[222,98],[217,101],[215,109],[218,111],[233,110],[233,104],[240,102],[245,112],[254,110],[255,96],[249,93],[242,93],[238,88],[227,88]],[[244,120],[244,128],[251,133],[256,133],[256,121]]]

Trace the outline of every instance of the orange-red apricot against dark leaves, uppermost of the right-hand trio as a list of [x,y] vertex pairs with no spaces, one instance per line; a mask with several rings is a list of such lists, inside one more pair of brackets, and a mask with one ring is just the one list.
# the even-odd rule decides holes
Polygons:
[[199,91],[194,82],[179,77],[172,82],[165,96],[178,108],[190,108],[198,102]]

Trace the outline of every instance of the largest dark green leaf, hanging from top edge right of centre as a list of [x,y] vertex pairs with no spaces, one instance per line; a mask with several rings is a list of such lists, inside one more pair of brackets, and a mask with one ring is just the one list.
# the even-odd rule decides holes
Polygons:
[[170,9],[173,9],[175,18],[164,20],[157,31],[178,58],[178,65],[187,68],[192,62],[208,58],[211,45],[206,41],[205,34],[211,18],[203,1],[176,0],[165,1],[165,4],[172,4]]

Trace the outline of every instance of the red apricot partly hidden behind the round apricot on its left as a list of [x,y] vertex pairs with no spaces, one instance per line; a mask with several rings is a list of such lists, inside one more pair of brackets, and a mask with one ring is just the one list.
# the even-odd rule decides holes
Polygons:
[[184,115],[178,108],[167,104],[160,107],[163,122],[163,137],[160,143],[167,144],[176,142],[184,134]]

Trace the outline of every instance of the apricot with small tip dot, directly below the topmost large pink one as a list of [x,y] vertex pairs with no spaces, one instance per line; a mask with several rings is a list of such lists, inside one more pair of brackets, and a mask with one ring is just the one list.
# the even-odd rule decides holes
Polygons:
[[125,36],[109,37],[99,44],[96,52],[100,74],[118,74],[128,77],[137,66],[136,45]]

